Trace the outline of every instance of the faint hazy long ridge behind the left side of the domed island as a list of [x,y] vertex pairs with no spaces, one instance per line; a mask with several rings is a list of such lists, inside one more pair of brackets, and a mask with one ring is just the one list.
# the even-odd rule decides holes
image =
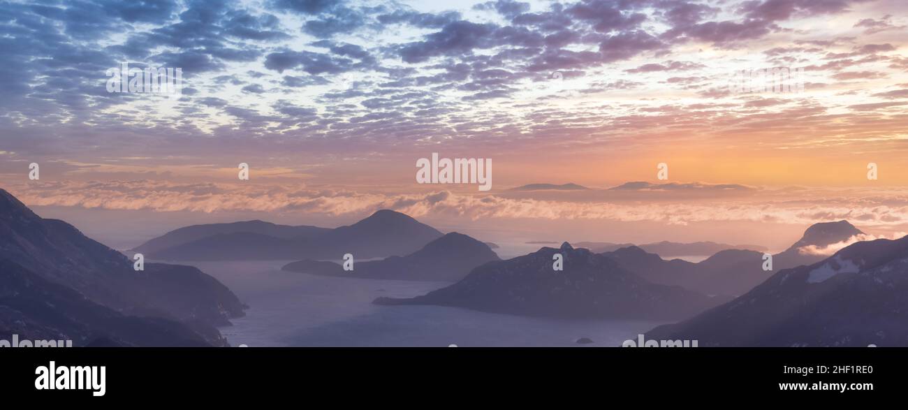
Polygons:
[[132,250],[145,255],[150,255],[155,252],[163,251],[164,249],[178,247],[199,239],[241,232],[259,234],[276,239],[312,239],[329,230],[331,229],[305,225],[276,225],[262,220],[192,225],[167,232],[163,236],[151,239]]

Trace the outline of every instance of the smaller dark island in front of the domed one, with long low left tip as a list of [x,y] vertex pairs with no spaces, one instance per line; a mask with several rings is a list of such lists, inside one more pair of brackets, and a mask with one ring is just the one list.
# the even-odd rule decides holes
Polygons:
[[285,265],[282,269],[315,275],[356,278],[457,281],[473,268],[500,260],[489,245],[467,235],[451,232],[404,257],[355,262],[353,270],[311,259]]

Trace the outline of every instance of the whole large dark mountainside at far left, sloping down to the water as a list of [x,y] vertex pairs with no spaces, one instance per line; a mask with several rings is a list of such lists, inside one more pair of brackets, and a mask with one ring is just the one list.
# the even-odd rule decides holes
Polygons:
[[[145,263],[143,271],[134,271],[120,252],[62,220],[42,219],[5,190],[0,190],[0,261],[7,279],[0,317],[13,320],[0,322],[0,329],[24,320],[35,328],[69,329],[74,343],[98,336],[124,345],[223,346],[215,326],[243,315],[230,289],[199,269]],[[33,300],[56,300],[71,310],[48,311]],[[150,337],[138,324],[159,331]]]

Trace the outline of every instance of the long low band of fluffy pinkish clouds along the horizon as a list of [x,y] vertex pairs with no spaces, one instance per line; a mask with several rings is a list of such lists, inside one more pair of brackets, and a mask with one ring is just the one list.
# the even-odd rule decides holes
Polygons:
[[[104,210],[280,211],[366,215],[399,210],[413,217],[537,220],[657,221],[686,225],[709,221],[810,224],[851,220],[864,227],[908,221],[908,190],[765,190],[732,200],[539,200],[497,194],[365,192],[287,184],[174,183],[169,181],[58,181],[0,187],[29,206]],[[864,239],[856,239],[864,240]],[[855,241],[856,241],[855,240]],[[839,246],[841,245],[841,246]],[[835,244],[838,249],[847,244]],[[834,252],[806,249],[806,252]]]

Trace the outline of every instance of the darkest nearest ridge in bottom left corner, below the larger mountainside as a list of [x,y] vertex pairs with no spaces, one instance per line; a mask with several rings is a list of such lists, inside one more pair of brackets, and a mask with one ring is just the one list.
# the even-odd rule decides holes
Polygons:
[[0,259],[0,338],[72,340],[86,346],[99,339],[117,346],[203,347],[204,337],[173,320],[126,317],[57,285],[9,260]]

